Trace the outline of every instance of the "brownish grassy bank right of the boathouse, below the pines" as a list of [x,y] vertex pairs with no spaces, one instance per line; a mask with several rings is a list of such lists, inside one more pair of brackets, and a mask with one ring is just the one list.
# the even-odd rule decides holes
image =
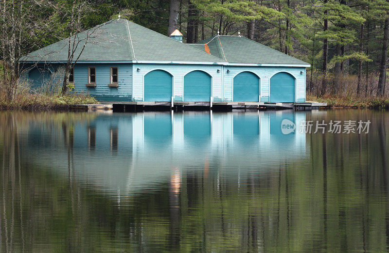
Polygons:
[[327,103],[330,108],[389,109],[389,97],[354,97],[336,95],[318,97],[307,95],[306,100]]

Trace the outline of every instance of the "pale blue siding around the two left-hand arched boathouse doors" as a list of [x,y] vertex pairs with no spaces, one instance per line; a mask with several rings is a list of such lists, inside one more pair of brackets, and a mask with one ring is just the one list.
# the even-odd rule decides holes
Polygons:
[[[189,72],[201,70],[208,73],[212,79],[213,101],[222,101],[222,76],[221,65],[192,65],[192,64],[133,64],[134,65],[134,100],[143,100],[143,79],[144,75],[155,69],[162,69],[173,76],[174,101],[182,101],[184,76]],[[137,71],[137,68],[140,71]],[[217,73],[217,70],[220,73]]]

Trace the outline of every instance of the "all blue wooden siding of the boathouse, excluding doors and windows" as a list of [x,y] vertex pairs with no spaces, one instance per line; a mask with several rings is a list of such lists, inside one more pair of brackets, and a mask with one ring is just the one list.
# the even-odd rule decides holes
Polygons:
[[[61,64],[51,64],[55,70]],[[119,69],[119,87],[110,88],[110,67]],[[27,65],[26,65],[27,67]],[[96,88],[88,88],[88,67],[96,67]],[[137,68],[140,71],[137,71]],[[201,70],[212,77],[213,101],[232,101],[233,78],[244,71],[256,74],[260,78],[260,102],[269,101],[269,80],[279,72],[287,72],[296,78],[295,101],[305,102],[305,67],[262,67],[203,64],[152,64],[152,63],[77,63],[74,68],[74,85],[77,92],[95,96],[100,101],[142,101],[143,79],[148,72],[161,69],[173,76],[174,101],[182,101],[184,76],[191,71]],[[217,70],[220,73],[217,73]],[[227,70],[230,73],[227,73]],[[303,72],[301,75],[300,72]],[[21,79],[28,79],[28,72],[23,72]],[[223,81],[222,81],[223,80]],[[222,85],[224,82],[224,85]]]

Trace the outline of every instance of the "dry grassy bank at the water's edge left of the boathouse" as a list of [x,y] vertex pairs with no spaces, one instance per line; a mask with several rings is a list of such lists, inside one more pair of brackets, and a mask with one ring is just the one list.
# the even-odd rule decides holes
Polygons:
[[7,101],[0,96],[0,110],[69,110],[74,104],[99,104],[99,102],[83,94],[40,95],[40,94],[18,94],[13,101]]

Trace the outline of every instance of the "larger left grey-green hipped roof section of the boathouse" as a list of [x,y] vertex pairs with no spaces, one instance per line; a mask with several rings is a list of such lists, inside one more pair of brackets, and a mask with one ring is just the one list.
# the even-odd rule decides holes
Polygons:
[[[137,25],[126,19],[113,19],[102,25],[80,32],[75,38],[79,42],[74,53],[79,61],[183,61],[222,62],[219,58],[197,50],[165,35]],[[71,40],[73,41],[73,40]],[[38,49],[21,61],[66,62],[69,38]]]

